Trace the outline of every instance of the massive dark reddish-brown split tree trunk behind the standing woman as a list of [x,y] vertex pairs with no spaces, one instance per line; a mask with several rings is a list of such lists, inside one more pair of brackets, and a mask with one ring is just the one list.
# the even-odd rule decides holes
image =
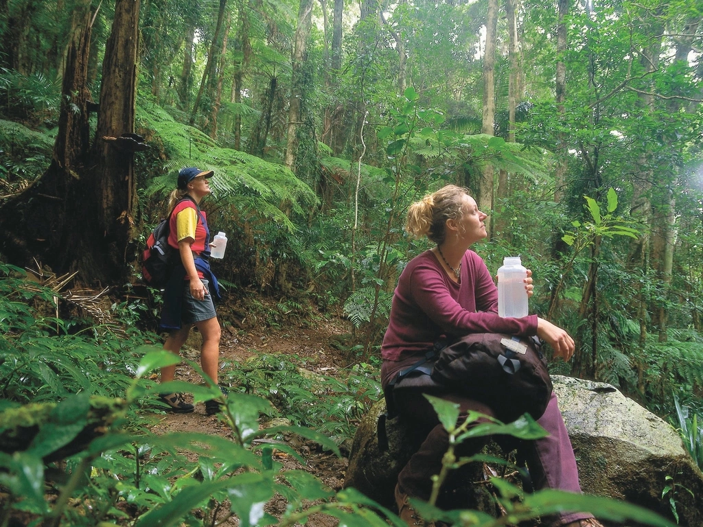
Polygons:
[[[131,153],[117,150],[120,134],[134,131],[138,0],[116,0],[105,46],[101,104],[93,148],[88,107],[91,2],[77,6],[83,20],[72,38],[63,79],[59,133],[46,173],[0,209],[1,241],[11,261],[35,256],[56,273],[78,271],[86,283],[121,283],[131,239],[136,186]],[[75,111],[75,109],[78,111]],[[129,141],[127,141],[129,143]]]

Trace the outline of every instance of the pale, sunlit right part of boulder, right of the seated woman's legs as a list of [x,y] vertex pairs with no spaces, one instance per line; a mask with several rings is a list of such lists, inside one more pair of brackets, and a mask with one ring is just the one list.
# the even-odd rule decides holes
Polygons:
[[670,424],[610,384],[552,377],[583,492],[636,503],[671,517],[662,490],[678,488],[679,525],[703,526],[703,474]]

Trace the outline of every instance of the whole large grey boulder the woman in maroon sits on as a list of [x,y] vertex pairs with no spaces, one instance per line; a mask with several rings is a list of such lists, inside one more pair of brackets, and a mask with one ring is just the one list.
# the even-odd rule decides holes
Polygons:
[[[672,476],[681,486],[676,493],[679,525],[703,527],[703,474],[671,425],[610,384],[561,376],[552,381],[584,492],[626,500],[672,518],[668,497],[662,499],[666,476]],[[379,448],[377,423],[384,412],[385,401],[379,401],[356,431],[344,484],[392,507],[398,473],[413,451],[413,441],[407,425],[392,419],[385,427],[387,449]],[[480,479],[480,471],[474,469],[471,481]],[[489,511],[489,497],[480,487],[471,497],[472,507]],[[464,499],[465,494],[463,503]]]

